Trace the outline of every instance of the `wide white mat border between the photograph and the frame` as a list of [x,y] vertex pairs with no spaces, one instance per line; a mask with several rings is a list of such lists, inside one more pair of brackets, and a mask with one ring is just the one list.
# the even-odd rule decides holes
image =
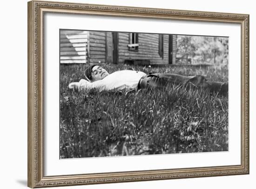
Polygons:
[[[45,15],[45,175],[162,170],[241,163],[241,27],[238,24],[47,13]],[[152,27],[154,25],[154,27]],[[59,159],[59,30],[129,31],[229,37],[229,151]],[[239,83],[239,84],[237,84]],[[231,119],[232,118],[232,119]]]

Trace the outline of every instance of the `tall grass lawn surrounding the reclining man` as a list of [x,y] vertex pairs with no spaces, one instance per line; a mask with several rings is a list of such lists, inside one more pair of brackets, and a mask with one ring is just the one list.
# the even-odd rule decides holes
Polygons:
[[[102,64],[112,73],[127,65]],[[228,151],[228,97],[186,88],[74,92],[86,65],[60,67],[60,157]],[[145,73],[203,75],[228,81],[215,66],[137,67]]]

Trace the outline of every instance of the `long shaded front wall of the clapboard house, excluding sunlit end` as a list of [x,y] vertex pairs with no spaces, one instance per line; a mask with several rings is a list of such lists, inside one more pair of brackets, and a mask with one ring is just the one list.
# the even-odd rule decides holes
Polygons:
[[[106,31],[89,31],[89,63],[112,63],[112,33]],[[160,57],[159,48],[159,34],[147,34],[139,33],[139,50],[131,51],[128,48],[129,33],[118,33],[118,52],[119,63],[124,63],[126,59],[147,59],[151,64],[168,64],[168,43],[169,36],[163,35],[163,58]],[[108,48],[106,51],[106,41],[108,42]],[[108,57],[106,59],[106,54]],[[176,55],[176,36],[173,35],[173,63],[175,63]]]

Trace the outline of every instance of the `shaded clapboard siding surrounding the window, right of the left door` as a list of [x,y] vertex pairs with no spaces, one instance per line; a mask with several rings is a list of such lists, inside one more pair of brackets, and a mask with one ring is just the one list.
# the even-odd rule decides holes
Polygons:
[[119,63],[126,59],[147,59],[151,64],[168,64],[168,35],[163,35],[163,58],[158,52],[159,34],[139,33],[138,38],[139,50],[130,51],[129,33],[119,33]]

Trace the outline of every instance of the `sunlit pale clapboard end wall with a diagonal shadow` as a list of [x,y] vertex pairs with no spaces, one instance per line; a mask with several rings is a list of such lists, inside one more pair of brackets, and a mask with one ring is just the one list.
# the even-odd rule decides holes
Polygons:
[[88,31],[60,31],[60,62],[88,62]]

